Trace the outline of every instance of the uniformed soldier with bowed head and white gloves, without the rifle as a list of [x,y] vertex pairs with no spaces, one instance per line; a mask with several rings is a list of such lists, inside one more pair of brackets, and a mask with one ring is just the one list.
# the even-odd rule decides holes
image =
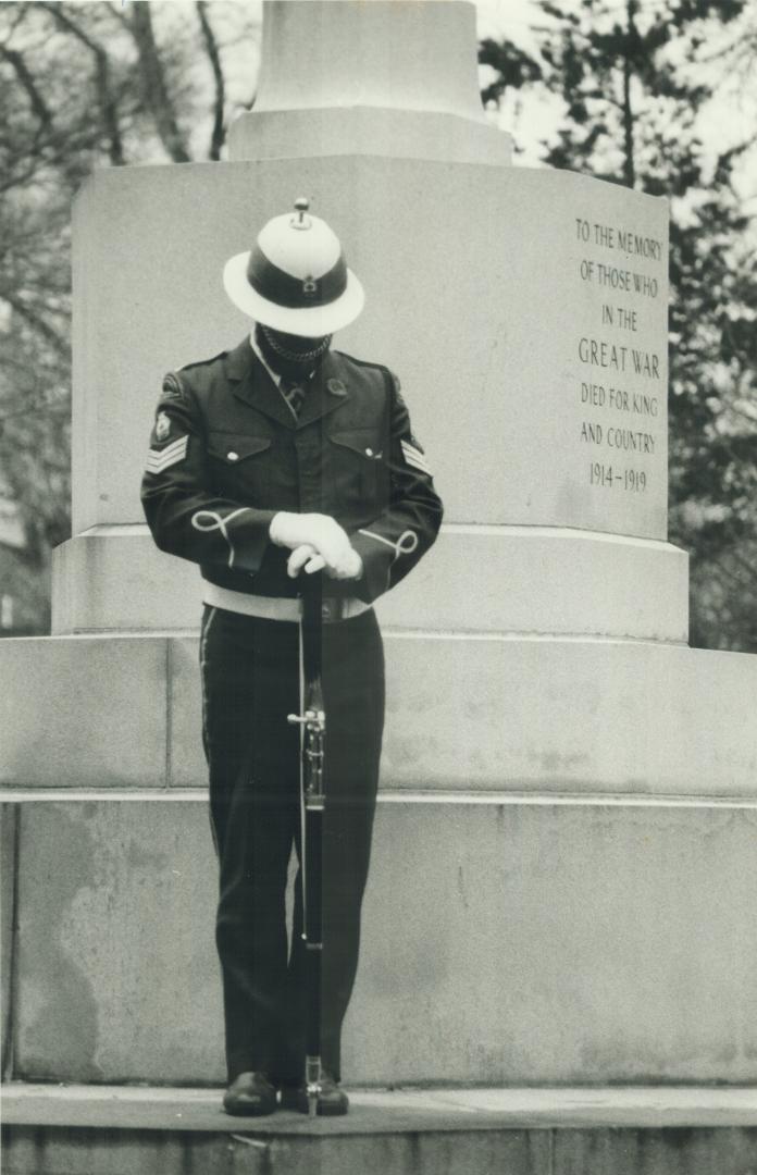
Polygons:
[[203,745],[220,866],[229,1114],[307,1112],[302,891],[292,948],[284,891],[300,855],[302,576],[323,571],[328,713],[320,1114],[344,1114],[349,1002],[378,780],[383,652],[373,600],[429,549],[442,519],[396,377],[330,349],[362,287],[331,229],[276,216],[225,268],[254,320],[232,351],[169,372],[142,503],[161,550],[200,564]]

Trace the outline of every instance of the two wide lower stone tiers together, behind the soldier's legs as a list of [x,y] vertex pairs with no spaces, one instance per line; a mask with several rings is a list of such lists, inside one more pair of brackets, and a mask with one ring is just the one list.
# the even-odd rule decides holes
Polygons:
[[[196,660],[0,642],[16,1075],[222,1079]],[[757,659],[406,632],[387,662],[346,1073],[757,1081]]]

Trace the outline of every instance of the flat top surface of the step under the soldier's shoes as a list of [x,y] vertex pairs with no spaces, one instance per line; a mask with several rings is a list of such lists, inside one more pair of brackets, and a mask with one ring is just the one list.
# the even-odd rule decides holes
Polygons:
[[255,1134],[403,1130],[595,1129],[601,1127],[757,1127],[757,1087],[688,1086],[541,1089],[350,1090],[350,1113],[317,1119],[294,1112],[233,1119],[220,1089],[140,1086],[2,1086],[7,1126],[227,1130]]

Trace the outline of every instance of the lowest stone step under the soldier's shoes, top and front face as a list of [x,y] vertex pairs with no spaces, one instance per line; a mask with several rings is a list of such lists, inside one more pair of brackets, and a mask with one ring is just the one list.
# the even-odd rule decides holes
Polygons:
[[751,1175],[757,1088],[395,1089],[230,1119],[219,1089],[4,1087],[5,1175]]

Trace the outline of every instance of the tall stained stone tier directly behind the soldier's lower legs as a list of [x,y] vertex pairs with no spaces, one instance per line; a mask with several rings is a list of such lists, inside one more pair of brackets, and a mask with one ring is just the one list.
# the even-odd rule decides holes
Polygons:
[[[757,1082],[757,803],[384,795],[353,1085]],[[25,1080],[221,1083],[216,866],[182,793],[25,800]]]

